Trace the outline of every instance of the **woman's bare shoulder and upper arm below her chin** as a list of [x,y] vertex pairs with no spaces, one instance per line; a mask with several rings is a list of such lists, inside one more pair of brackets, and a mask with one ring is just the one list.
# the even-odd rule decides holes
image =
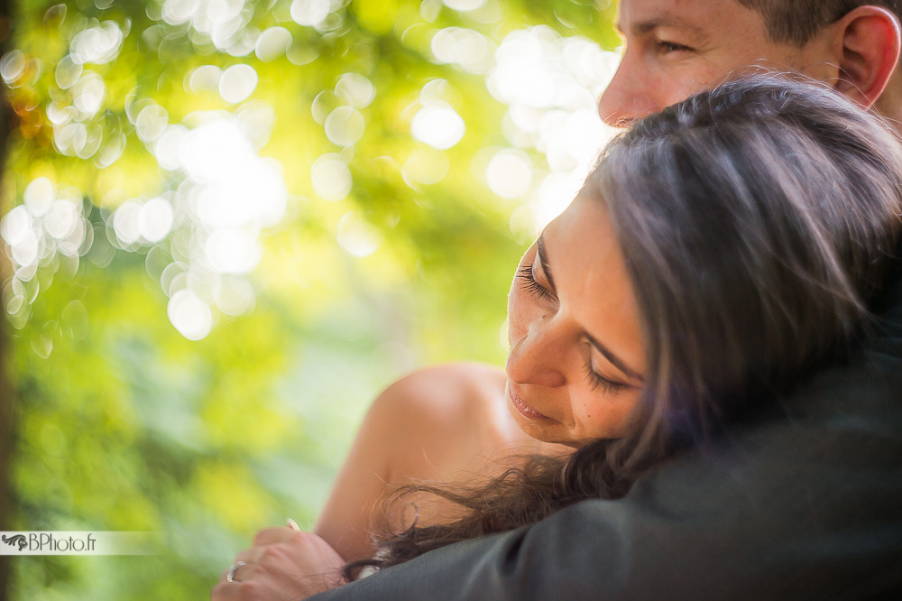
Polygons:
[[393,486],[447,481],[502,446],[498,399],[502,376],[484,365],[441,365],[392,384],[364,418],[313,532],[346,560],[370,557],[373,507]]

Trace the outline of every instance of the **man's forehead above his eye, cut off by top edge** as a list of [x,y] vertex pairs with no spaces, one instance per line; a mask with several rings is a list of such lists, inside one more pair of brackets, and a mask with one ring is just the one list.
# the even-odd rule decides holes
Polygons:
[[621,0],[618,14],[617,29],[633,35],[658,28],[705,34],[760,18],[737,0]]

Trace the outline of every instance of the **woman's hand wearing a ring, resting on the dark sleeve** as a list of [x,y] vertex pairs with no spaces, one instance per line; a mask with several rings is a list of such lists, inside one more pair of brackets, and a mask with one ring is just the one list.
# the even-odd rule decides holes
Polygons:
[[344,565],[345,559],[326,541],[311,532],[301,532],[290,520],[284,528],[257,532],[253,547],[235,556],[235,564],[223,572],[210,598],[305,599],[345,584],[341,577]]

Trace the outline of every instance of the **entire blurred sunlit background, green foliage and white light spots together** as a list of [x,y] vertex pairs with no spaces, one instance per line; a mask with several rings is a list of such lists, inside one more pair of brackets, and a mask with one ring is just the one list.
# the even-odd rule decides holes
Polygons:
[[382,387],[502,364],[514,266],[612,134],[614,6],[11,10],[5,526],[161,546],[16,558],[4,584],[204,598],[258,528],[312,524]]

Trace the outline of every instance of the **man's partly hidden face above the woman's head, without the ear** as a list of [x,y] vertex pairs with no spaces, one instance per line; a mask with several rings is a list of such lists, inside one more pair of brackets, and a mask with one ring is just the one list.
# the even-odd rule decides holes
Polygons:
[[654,113],[732,73],[762,66],[817,77],[817,44],[771,42],[761,15],[737,0],[621,0],[620,69],[598,102],[610,125]]

